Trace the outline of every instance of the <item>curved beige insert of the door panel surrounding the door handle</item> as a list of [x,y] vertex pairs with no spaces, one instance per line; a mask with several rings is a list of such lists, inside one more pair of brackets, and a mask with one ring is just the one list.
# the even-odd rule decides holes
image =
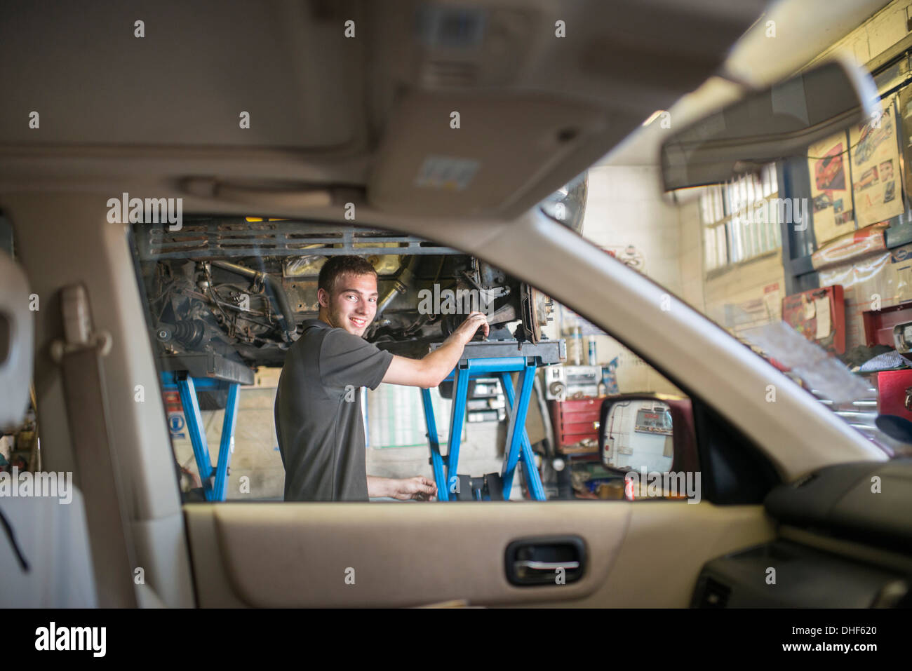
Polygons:
[[[201,606],[559,604],[595,593],[620,550],[632,506],[599,503],[193,503],[184,511]],[[574,535],[586,543],[578,582],[507,581],[510,542]]]

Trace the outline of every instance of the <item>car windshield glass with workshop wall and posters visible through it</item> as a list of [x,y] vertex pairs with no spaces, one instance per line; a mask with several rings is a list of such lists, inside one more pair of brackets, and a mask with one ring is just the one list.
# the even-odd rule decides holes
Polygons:
[[897,456],[912,453],[909,55],[867,69],[876,114],[723,183],[663,191],[643,159],[676,129],[658,110],[587,171],[580,232]]

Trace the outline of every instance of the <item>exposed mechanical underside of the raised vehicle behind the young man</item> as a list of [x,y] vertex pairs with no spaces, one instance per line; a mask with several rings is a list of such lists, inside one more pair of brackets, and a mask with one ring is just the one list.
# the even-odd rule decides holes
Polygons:
[[[213,353],[251,367],[281,366],[302,323],[318,314],[317,275],[337,254],[361,255],[377,270],[377,316],[365,336],[382,348],[423,356],[470,307],[487,308],[490,339],[541,338],[550,302],[474,257],[397,233],[248,219],[185,218],[176,232],[136,225],[161,356]],[[441,294],[457,298],[455,309],[444,302],[428,310],[428,299]]]

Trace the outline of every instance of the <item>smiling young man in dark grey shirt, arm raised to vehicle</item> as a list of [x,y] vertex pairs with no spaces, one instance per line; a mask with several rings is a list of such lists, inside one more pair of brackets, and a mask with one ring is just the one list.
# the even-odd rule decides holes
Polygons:
[[367,474],[358,387],[381,382],[437,387],[459,362],[485,315],[473,312],[443,345],[421,359],[384,352],[363,338],[377,314],[377,272],[359,256],[333,256],[317,281],[320,312],[289,348],[275,395],[275,433],[285,466],[285,501],[434,501],[422,476]]

